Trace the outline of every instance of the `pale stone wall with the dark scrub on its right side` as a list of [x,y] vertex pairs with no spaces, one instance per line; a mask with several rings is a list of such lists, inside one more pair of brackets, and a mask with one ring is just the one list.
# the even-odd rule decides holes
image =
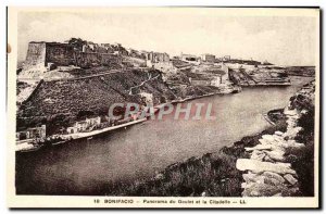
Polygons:
[[[244,148],[250,158],[237,160],[237,169],[243,172],[242,197],[313,196],[313,179],[310,179],[310,192],[302,180],[314,174],[314,142],[310,138],[314,135],[314,92],[315,84],[311,81],[290,99],[283,111],[286,131],[263,135],[259,144]],[[304,119],[306,115],[310,115],[310,123]]]

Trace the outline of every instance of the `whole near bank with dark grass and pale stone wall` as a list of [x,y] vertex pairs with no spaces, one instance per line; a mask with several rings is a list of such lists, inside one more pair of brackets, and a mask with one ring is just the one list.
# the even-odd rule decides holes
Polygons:
[[[309,197],[313,196],[314,81],[284,110],[267,113],[275,126],[218,152],[190,158],[155,176],[101,187],[108,196]],[[309,115],[309,116],[306,116]],[[314,115],[314,114],[312,114]]]

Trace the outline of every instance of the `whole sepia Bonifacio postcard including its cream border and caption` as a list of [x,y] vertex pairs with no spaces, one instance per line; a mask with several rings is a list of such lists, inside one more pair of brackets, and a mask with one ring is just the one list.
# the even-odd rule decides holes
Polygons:
[[317,209],[319,8],[8,8],[8,206]]

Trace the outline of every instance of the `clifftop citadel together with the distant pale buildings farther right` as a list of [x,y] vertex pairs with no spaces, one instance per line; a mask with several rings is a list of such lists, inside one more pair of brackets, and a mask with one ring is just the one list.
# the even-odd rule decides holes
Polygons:
[[[216,58],[205,53],[200,56],[181,53],[178,56],[191,64],[216,63],[230,60],[229,55]],[[89,68],[95,66],[113,66],[116,64],[133,65],[136,67],[154,67],[164,73],[176,72],[171,58],[165,52],[126,49],[121,43],[95,43],[73,38],[67,42],[32,41],[23,70],[54,70],[57,66],[78,66]]]

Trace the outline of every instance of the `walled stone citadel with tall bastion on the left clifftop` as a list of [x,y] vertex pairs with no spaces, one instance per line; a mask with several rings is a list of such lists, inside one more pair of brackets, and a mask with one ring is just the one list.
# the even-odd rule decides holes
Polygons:
[[121,64],[126,58],[138,60],[138,64],[150,67],[155,63],[170,63],[170,55],[165,52],[126,49],[121,43],[95,43],[82,39],[68,42],[32,41],[28,43],[23,71],[51,71],[57,66],[72,65],[87,68]]

